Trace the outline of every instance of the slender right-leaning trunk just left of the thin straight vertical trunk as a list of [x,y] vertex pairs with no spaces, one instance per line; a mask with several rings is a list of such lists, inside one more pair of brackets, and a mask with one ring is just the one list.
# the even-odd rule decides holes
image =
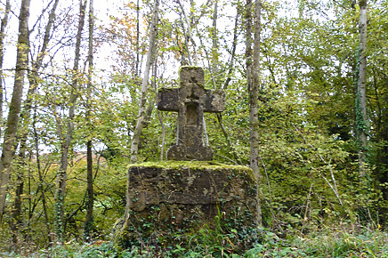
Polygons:
[[[73,67],[73,81],[71,87],[70,101],[69,101],[69,120],[68,128],[66,133],[66,138],[61,139],[61,165],[60,170],[57,174],[57,190],[55,193],[55,233],[60,242],[63,242],[63,233],[64,233],[64,198],[66,193],[66,178],[68,171],[68,161],[69,161],[69,148],[71,141],[73,139],[73,129],[74,129],[74,116],[76,111],[77,104],[77,87],[78,87],[78,64],[80,59],[80,50],[81,50],[81,39],[82,39],[82,30],[85,23],[85,8],[87,0],[80,0],[80,10],[79,10],[79,22],[77,28],[76,36],[76,53],[74,58],[74,67]],[[61,134],[61,132],[59,132]]]

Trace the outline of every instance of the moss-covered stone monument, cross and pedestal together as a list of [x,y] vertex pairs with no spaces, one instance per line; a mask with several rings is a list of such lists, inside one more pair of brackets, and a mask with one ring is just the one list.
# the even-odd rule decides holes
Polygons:
[[178,88],[158,90],[158,109],[178,112],[177,140],[167,150],[168,161],[129,166],[117,246],[128,248],[136,241],[167,245],[178,233],[212,227],[215,216],[236,230],[255,225],[253,171],[214,162],[213,150],[203,142],[204,112],[225,108],[225,93],[204,84],[203,69],[182,67]]

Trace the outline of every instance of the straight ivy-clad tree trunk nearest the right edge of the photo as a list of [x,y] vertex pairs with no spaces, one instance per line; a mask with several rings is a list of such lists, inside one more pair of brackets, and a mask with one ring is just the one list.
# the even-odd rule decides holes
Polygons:
[[367,0],[360,0],[360,49],[358,53],[359,77],[356,93],[356,125],[359,138],[359,172],[360,176],[366,174],[367,164],[367,95],[366,95],[366,75],[367,75]]

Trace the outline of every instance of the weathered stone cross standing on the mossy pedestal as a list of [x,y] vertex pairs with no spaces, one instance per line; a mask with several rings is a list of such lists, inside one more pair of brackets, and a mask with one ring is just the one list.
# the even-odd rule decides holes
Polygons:
[[204,145],[204,112],[222,112],[225,93],[204,88],[204,70],[184,66],[179,69],[180,88],[158,90],[158,109],[178,112],[176,145],[167,150],[167,159],[211,160],[213,149]]

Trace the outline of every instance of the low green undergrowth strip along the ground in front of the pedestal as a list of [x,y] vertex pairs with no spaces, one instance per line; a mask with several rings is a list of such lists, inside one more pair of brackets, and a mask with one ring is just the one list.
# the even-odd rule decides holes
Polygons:
[[[215,218],[217,221],[217,217]],[[218,218],[221,222],[221,218]],[[388,257],[388,233],[340,224],[302,234],[296,230],[280,238],[270,230],[238,232],[221,223],[205,225],[197,233],[176,235],[161,248],[144,244],[120,252],[111,241],[65,243],[36,253],[2,253],[4,257]]]

